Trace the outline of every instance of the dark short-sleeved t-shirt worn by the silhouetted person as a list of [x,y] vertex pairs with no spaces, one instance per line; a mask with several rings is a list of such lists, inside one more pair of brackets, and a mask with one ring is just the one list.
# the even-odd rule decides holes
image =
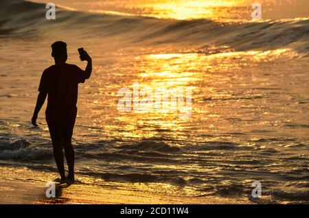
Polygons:
[[76,113],[78,84],[85,79],[85,72],[73,64],[57,64],[45,69],[38,91],[48,93],[46,114],[56,118]]

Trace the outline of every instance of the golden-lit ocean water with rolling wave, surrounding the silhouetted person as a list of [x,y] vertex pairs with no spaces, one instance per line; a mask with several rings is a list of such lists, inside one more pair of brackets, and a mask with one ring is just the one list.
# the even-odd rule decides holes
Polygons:
[[[136,1],[61,2],[54,21],[43,3],[0,2],[0,165],[56,172],[45,106],[39,128],[30,119],[41,73],[54,64],[50,45],[64,40],[68,62],[85,66],[78,47],[93,58],[73,134],[79,180],[236,199],[252,199],[259,181],[262,202],[308,203],[304,7],[251,21],[241,1],[225,5],[230,14],[214,16],[222,5],[213,5],[198,17]],[[191,117],[120,112],[117,92],[134,83],[190,88]]]

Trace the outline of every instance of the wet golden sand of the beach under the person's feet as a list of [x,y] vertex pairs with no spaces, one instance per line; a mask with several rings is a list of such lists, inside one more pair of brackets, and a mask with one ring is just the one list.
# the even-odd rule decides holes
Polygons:
[[53,180],[53,176],[23,167],[1,167],[0,204],[252,204],[239,198],[163,195],[82,182],[56,184],[56,197],[47,198],[43,180]]

